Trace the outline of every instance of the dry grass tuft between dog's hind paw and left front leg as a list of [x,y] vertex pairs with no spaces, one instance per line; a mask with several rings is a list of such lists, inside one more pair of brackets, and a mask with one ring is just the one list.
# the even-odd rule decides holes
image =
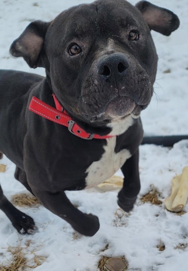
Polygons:
[[12,196],[12,203],[15,206],[23,207],[38,207],[41,203],[32,195],[29,194],[16,194]]

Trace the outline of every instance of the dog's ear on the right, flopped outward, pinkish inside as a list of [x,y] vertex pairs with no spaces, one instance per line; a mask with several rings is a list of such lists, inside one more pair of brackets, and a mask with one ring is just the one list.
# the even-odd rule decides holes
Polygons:
[[160,8],[147,1],[140,1],[135,7],[142,13],[150,30],[169,36],[179,27],[177,15],[166,8]]

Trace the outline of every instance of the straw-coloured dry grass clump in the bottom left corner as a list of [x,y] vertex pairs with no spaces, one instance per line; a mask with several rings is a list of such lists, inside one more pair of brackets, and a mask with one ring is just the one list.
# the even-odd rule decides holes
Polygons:
[[22,247],[8,247],[8,252],[11,253],[12,259],[9,261],[8,265],[1,265],[0,271],[25,271],[31,270],[36,268],[37,266],[41,265],[46,257],[38,256],[33,252],[32,259],[28,260],[26,258],[27,252],[23,252]]

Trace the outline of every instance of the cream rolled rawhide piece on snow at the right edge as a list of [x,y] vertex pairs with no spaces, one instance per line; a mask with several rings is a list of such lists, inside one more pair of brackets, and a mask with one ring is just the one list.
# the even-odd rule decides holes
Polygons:
[[172,179],[171,195],[165,199],[167,210],[173,212],[182,211],[188,198],[188,166],[183,168],[183,173]]

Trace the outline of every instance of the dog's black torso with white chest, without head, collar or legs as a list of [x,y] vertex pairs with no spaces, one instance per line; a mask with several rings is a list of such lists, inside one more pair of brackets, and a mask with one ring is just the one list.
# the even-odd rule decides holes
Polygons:
[[[30,73],[3,70],[1,78],[2,82],[7,84],[7,86],[2,86],[2,82],[0,82],[0,88],[6,90],[5,93],[1,92],[0,102],[1,151],[20,169],[25,170],[23,156],[28,156],[30,151],[24,141],[33,141],[31,153],[34,152],[37,158],[32,159],[33,155],[29,155],[29,167],[34,160],[32,171],[40,174],[41,166],[46,168],[48,178],[50,176],[52,180],[55,179],[56,186],[59,186],[58,188],[49,187],[52,192],[53,189],[80,190],[98,185],[122,167],[142,141],[140,118],[133,120],[131,116],[117,125],[119,129],[122,129],[123,126],[125,130],[117,139],[112,137],[105,140],[80,140],[66,127],[28,111],[32,96],[38,96],[42,101],[55,107],[51,89],[45,85],[45,78]],[[41,86],[43,86],[44,92],[41,91]],[[11,94],[12,92],[15,97]],[[7,107],[7,105],[9,106]],[[30,114],[31,120],[28,116]],[[13,125],[11,126],[11,124]],[[8,130],[7,127],[9,127]],[[126,133],[128,128],[130,138]],[[115,133],[118,133],[117,127]],[[17,136],[12,138],[14,134]],[[28,136],[29,139],[27,139]],[[23,149],[27,150],[25,154]],[[46,166],[47,164],[48,166]],[[40,178],[43,179],[42,176]],[[47,176],[45,176],[44,182],[46,178]],[[41,183],[43,183],[42,179]],[[59,185],[57,185],[58,182]],[[46,186],[46,183],[44,185]]]

